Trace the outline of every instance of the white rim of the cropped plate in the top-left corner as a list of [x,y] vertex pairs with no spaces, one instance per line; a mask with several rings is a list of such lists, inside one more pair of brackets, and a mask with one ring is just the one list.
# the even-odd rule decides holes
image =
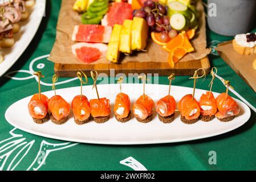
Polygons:
[[2,48],[5,60],[0,63],[0,76],[2,76],[19,59],[22,53],[29,46],[39,28],[46,7],[46,0],[36,0],[35,6],[31,10],[30,18],[20,22],[21,30],[14,34],[15,44],[11,48]]

